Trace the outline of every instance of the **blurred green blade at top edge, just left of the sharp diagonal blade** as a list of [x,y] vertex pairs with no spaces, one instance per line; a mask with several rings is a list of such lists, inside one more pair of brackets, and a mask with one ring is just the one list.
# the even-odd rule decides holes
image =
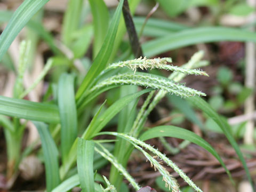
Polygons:
[[93,58],[100,51],[100,47],[108,30],[109,13],[108,7],[103,0],[89,0],[93,15],[94,42],[93,42]]

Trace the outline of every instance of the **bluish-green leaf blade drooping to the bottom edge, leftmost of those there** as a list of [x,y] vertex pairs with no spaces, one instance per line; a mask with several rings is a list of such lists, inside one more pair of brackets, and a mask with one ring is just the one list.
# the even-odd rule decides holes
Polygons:
[[60,183],[58,149],[48,126],[42,122],[34,122],[42,142],[44,164],[46,170],[46,189],[51,192]]

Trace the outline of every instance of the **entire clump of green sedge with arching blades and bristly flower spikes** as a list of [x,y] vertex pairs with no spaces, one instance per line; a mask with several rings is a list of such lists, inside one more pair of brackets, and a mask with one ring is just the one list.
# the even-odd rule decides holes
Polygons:
[[[209,151],[218,159],[230,180],[233,181],[217,152],[195,133],[171,125],[144,129],[151,111],[166,94],[169,94],[186,99],[195,107],[203,110],[220,126],[236,150],[247,177],[251,181],[245,160],[230,133],[227,122],[215,113],[207,102],[199,98],[205,96],[205,93],[179,83],[186,75],[208,76],[205,71],[198,69],[208,65],[207,61],[202,60],[202,51],[195,53],[181,67],[172,66],[171,58],[147,59],[140,57],[130,59],[129,56],[125,56],[125,51],[129,52],[129,50],[125,50],[121,57],[116,58],[115,55],[126,30],[124,21],[120,19],[124,0],[119,1],[110,22],[108,22],[109,14],[105,3],[102,0],[89,0],[93,15],[92,24],[80,22],[86,14],[86,11],[83,12],[84,1],[70,0],[64,15],[61,43],[57,43],[43,26],[33,19],[30,20],[48,1],[25,0],[12,16],[10,12],[0,12],[0,15],[5,16],[3,18],[11,18],[0,36],[0,59],[6,57],[6,51],[11,42],[26,24],[36,31],[35,34],[38,37],[44,39],[54,53],[54,56],[47,60],[41,74],[27,89],[23,86],[23,77],[29,68],[27,64],[36,42],[31,41],[28,37],[30,41],[23,41],[20,44],[17,69],[14,65],[5,62],[6,59],[4,59],[5,65],[9,65],[9,68],[13,69],[17,76],[13,98],[0,96],[0,124],[4,129],[8,156],[7,180],[13,180],[16,177],[22,159],[35,153],[43,154],[47,192],[69,191],[76,186],[89,192],[123,191],[127,188],[123,183],[123,177],[131,183],[135,190],[150,191],[151,188],[140,186],[126,170],[133,149],[137,149],[154,169],[161,173],[166,183],[166,190],[180,191],[177,181],[165,169],[162,162],[172,167],[195,191],[202,191],[161,151],[145,142],[155,137],[175,137],[196,143]],[[129,2],[131,12],[135,10],[138,3],[139,1]],[[181,28],[179,29],[181,30]],[[89,49],[93,30],[93,59],[90,68],[86,68],[83,65],[84,59],[90,59],[85,58],[84,55]],[[158,30],[164,33],[163,28],[160,27]],[[256,42],[255,34],[249,31],[209,27],[186,29],[172,35],[155,38],[143,44],[142,48],[149,58],[167,50],[199,42],[237,41],[238,39]],[[116,60],[118,62],[114,62]],[[43,95],[42,101],[25,100],[24,98],[35,89],[46,74],[51,74],[53,68],[55,68],[55,71],[52,72],[54,80],[49,82],[50,85]],[[148,70],[149,73],[140,72],[139,69]],[[168,78],[154,75],[150,73],[150,69],[167,70],[171,74]],[[106,101],[100,103],[101,106],[89,121],[88,117],[90,117],[92,109],[96,109],[96,104],[101,101],[98,99],[98,95],[106,91],[113,91],[114,88],[119,89],[119,98],[110,106],[107,106]],[[147,94],[147,97],[137,113],[138,100],[143,94]],[[103,108],[105,109],[103,110]],[[102,132],[116,115],[118,115],[117,130]],[[26,119],[26,121],[21,121],[21,119]],[[28,121],[33,121],[38,130],[41,140],[39,150],[36,148],[39,142],[35,141],[21,151],[21,141]],[[117,138],[115,140],[95,139],[96,136],[102,134],[113,135]],[[107,162],[111,163],[109,179],[105,176],[102,178],[97,173],[97,170]],[[102,185],[96,181],[100,181]],[[152,189],[152,191],[154,190]]]

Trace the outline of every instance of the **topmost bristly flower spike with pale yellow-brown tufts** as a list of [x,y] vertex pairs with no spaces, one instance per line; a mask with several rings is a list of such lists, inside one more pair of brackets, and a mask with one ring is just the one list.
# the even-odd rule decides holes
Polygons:
[[117,63],[113,63],[108,66],[107,69],[115,69],[118,67],[128,67],[136,72],[137,68],[140,68],[142,70],[150,69],[165,69],[165,70],[171,70],[171,71],[177,71],[179,73],[186,73],[190,75],[204,75],[208,76],[204,71],[199,69],[186,69],[181,68],[177,66],[167,65],[167,63],[171,63],[171,58],[155,58],[155,59],[147,59],[146,57],[133,59],[133,60],[127,60],[127,61],[120,61]]

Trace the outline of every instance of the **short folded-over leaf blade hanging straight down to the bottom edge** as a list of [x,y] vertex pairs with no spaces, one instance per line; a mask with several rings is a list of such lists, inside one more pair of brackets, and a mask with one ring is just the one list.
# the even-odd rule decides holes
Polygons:
[[85,192],[94,192],[93,153],[94,142],[78,138],[77,171]]

